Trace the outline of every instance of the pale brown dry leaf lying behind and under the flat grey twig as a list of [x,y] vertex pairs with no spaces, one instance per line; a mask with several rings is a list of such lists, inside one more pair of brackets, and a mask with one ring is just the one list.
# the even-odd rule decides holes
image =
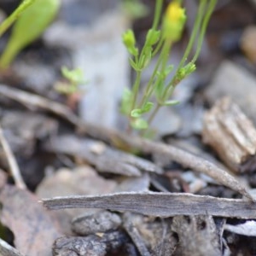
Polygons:
[[[73,170],[62,168],[54,175],[44,177],[39,184],[37,195],[39,197],[52,197],[60,195],[101,195],[112,193],[116,188],[113,180],[105,179],[89,166],[79,166]],[[64,234],[72,234],[70,222],[81,214],[89,214],[96,210],[67,209],[53,212],[61,225]]]

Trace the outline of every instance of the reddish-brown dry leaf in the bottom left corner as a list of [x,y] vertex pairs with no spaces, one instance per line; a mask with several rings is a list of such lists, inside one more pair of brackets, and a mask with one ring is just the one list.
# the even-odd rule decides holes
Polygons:
[[15,235],[15,247],[26,256],[50,256],[59,232],[38,198],[25,189],[6,185],[0,193],[1,223]]

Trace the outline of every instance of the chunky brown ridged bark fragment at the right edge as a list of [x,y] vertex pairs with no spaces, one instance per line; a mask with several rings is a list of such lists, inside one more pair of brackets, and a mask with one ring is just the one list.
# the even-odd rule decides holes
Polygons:
[[218,101],[205,115],[203,141],[235,172],[256,166],[256,129],[229,97]]

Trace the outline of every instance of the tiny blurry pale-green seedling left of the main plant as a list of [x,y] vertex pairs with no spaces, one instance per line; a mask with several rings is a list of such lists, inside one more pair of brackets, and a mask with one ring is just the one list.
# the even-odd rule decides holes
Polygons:
[[61,68],[62,76],[67,79],[67,82],[58,82],[55,84],[55,90],[62,94],[71,95],[76,92],[81,92],[79,86],[86,84],[84,81],[84,73],[81,68],[68,69]]

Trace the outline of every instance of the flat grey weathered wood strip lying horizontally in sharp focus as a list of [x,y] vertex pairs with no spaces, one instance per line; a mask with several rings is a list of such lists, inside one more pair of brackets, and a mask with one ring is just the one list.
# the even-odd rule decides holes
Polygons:
[[229,218],[256,218],[256,204],[241,199],[216,198],[186,193],[117,193],[97,196],[64,196],[42,200],[45,207],[100,208],[137,212],[149,216],[212,215]]

